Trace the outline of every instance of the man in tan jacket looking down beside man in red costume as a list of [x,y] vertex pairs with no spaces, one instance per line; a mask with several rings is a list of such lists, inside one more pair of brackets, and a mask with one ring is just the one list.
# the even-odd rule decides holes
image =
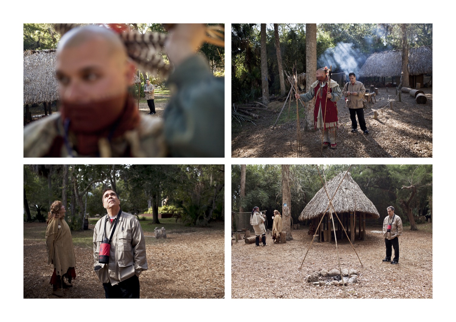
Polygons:
[[364,120],[363,97],[366,92],[364,84],[356,80],[355,73],[348,74],[350,82],[345,84],[342,94],[347,97],[347,107],[350,111],[350,119],[352,120],[352,132],[358,131],[358,124],[356,123],[356,116],[358,115],[359,127],[363,130],[364,134],[369,134]]

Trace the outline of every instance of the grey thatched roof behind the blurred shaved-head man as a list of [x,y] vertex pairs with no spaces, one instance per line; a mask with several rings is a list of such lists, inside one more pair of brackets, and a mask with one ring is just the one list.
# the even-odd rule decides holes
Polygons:
[[[59,100],[55,61],[55,49],[24,52],[24,104]],[[136,72],[131,84],[139,83],[141,80]]]

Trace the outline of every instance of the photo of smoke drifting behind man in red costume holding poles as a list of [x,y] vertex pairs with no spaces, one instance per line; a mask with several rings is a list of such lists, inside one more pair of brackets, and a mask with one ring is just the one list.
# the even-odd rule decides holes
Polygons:
[[232,157],[432,158],[432,26],[232,24]]

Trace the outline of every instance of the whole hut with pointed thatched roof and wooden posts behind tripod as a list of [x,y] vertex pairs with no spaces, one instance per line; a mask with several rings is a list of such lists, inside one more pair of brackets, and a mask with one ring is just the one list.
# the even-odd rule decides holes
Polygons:
[[[332,180],[327,182],[326,190],[328,191],[328,194],[331,198],[334,195],[334,192],[336,192],[337,186],[341,182],[344,174],[345,172],[341,172],[340,174],[337,174],[337,176],[335,176]],[[321,188],[318,190],[312,200],[309,201],[309,203],[306,205],[298,219],[301,222],[311,220],[312,225],[316,228],[318,227],[318,223],[320,222],[321,217],[326,216],[326,218],[324,218],[321,222],[320,228],[317,232],[315,232],[315,234],[318,235],[321,241],[330,242],[332,236],[329,234],[329,231],[332,229],[332,221],[329,217],[329,210],[325,212],[328,204],[329,200],[325,189]],[[357,235],[357,224],[358,238],[365,240],[366,217],[380,217],[377,208],[375,208],[372,201],[370,201],[368,197],[364,195],[363,190],[361,190],[359,185],[355,182],[355,180],[353,180],[350,173],[347,173],[343,179],[339,189],[336,192],[336,195],[332,199],[332,204],[334,206],[334,211],[337,212],[337,216],[345,227],[345,230],[347,231],[348,236],[352,242]],[[336,216],[334,216],[334,224],[337,227],[337,230],[335,232],[337,234],[337,240],[346,238],[342,226],[338,222]]]

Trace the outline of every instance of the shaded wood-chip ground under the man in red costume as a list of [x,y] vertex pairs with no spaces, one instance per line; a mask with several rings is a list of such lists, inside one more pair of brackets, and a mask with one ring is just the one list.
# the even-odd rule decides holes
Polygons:
[[[422,89],[427,97],[426,104],[416,104],[415,98],[402,93],[402,102],[395,101],[389,109],[388,96],[395,97],[394,89],[379,89],[377,103],[369,103],[364,109],[368,135],[359,129],[352,133],[352,123],[348,108],[340,100],[338,103],[339,128],[337,149],[323,148],[321,152],[321,132],[304,131],[304,120],[300,111],[302,157],[305,158],[431,158],[432,157],[432,89]],[[380,98],[384,97],[384,100]],[[396,99],[397,100],[397,99]],[[296,157],[296,120],[286,121],[288,104],[280,116],[278,126],[271,130],[279,115],[283,102],[271,102],[268,108],[275,110],[254,111],[260,118],[252,123],[232,121],[233,158],[290,158]],[[383,106],[388,107],[383,108]],[[294,106],[294,107],[293,107]],[[373,111],[378,119],[373,119]],[[296,103],[292,102],[290,116],[296,114]],[[282,117],[284,121],[282,121]]]

